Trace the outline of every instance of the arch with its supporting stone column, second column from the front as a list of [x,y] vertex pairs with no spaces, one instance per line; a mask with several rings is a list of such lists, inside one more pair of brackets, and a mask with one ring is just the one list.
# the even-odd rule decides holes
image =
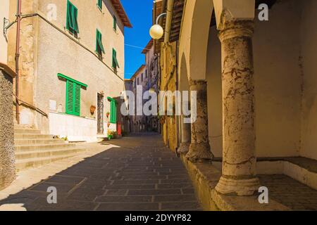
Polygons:
[[184,77],[186,72],[190,93],[197,94],[196,101],[191,101],[191,143],[186,155],[191,161],[213,159],[208,136],[206,84],[207,47],[212,13],[213,1],[187,1],[182,21],[182,27],[186,27],[186,30],[181,30],[180,36],[180,77]]

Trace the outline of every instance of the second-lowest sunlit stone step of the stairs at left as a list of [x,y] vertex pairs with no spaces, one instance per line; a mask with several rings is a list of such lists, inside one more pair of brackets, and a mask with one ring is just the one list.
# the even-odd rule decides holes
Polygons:
[[51,143],[51,144],[40,144],[40,145],[20,145],[15,146],[16,152],[32,151],[32,150],[58,150],[75,148],[75,143]]

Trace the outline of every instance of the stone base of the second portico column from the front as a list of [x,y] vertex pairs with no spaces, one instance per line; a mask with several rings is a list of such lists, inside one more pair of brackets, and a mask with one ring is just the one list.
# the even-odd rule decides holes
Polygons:
[[213,160],[209,143],[191,143],[186,158],[191,162]]

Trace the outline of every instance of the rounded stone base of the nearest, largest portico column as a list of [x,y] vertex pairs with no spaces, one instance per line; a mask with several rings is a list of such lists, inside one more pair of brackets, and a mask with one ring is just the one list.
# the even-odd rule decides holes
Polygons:
[[235,193],[239,196],[254,195],[259,191],[260,182],[257,177],[251,179],[228,179],[223,176],[216,186],[216,191],[221,194]]

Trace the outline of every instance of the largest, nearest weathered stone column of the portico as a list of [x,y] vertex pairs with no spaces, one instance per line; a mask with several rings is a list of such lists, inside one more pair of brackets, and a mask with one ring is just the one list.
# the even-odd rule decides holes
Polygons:
[[222,24],[223,174],[216,191],[253,195],[256,178],[254,131],[254,22],[233,20]]

